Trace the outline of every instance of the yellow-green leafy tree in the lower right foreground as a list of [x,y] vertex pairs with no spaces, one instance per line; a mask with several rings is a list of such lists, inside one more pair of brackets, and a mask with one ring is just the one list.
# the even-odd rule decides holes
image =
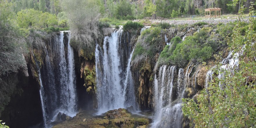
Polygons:
[[[254,11],[250,12],[252,15]],[[183,99],[182,111],[195,127],[255,127],[256,124],[256,44],[255,18],[249,24],[238,22],[235,26],[223,26],[225,31],[218,33],[227,36],[231,50],[241,52],[239,66],[230,70],[221,68],[216,63],[214,76],[208,88],[198,95],[197,102]],[[233,29],[232,29],[233,28]],[[232,29],[233,32],[230,32]],[[227,33],[225,33],[227,32]],[[215,55],[221,61],[220,55]],[[218,78],[218,74],[223,77]],[[220,86],[220,84],[222,86]]]

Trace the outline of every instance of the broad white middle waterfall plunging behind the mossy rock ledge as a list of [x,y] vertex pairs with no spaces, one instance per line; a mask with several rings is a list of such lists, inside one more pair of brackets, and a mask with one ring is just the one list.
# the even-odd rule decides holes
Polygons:
[[104,38],[103,49],[96,45],[98,114],[112,109],[135,107],[135,91],[130,72],[133,51],[124,48],[130,45],[122,41],[122,35],[124,38],[125,35],[129,37],[129,33],[123,33],[122,29],[118,29],[111,33],[111,36]]

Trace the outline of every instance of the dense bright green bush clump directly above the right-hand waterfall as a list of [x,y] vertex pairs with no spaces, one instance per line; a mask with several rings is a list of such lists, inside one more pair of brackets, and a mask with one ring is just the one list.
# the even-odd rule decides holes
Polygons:
[[[158,64],[159,65],[178,65],[183,67],[189,61],[203,62],[212,57],[212,54],[217,50],[218,42],[211,40],[213,36],[212,28],[202,28],[195,32],[194,35],[188,36],[182,42],[180,37],[174,37],[170,41],[171,45],[166,45],[161,52]],[[210,39],[208,39],[210,38]],[[211,42],[210,42],[211,41]]]

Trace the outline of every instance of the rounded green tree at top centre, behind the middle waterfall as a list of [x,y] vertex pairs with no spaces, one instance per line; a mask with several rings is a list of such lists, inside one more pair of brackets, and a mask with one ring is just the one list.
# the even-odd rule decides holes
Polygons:
[[131,3],[128,0],[120,0],[117,4],[117,14],[125,17],[132,15]]

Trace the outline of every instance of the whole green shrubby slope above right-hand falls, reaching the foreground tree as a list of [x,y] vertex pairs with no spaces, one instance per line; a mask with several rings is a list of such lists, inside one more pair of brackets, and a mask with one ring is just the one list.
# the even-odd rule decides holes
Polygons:
[[[204,22],[192,26],[207,25]],[[227,40],[232,35],[234,24],[219,24],[216,31],[211,26],[205,26],[200,31],[188,36],[184,41],[175,37],[161,52],[159,65],[178,65],[184,67],[189,61],[204,62],[213,57],[213,54],[227,46]]]

